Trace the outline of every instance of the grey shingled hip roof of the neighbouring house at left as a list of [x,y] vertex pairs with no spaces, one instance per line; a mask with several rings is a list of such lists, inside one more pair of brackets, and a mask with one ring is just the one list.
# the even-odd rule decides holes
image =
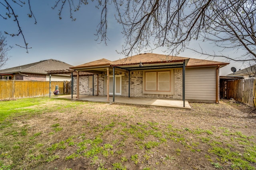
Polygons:
[[7,68],[0,70],[0,73],[18,73],[18,72],[26,72],[26,73],[34,73],[34,74],[46,74],[48,70],[65,70],[72,67],[72,65],[64,63],[62,61],[49,59],[43,60],[36,63],[26,64],[22,66],[16,66],[12,68]]

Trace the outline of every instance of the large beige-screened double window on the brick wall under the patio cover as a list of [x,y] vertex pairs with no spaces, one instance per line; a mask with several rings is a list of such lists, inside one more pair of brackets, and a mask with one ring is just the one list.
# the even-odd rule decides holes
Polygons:
[[143,94],[173,94],[173,70],[148,71],[143,76]]

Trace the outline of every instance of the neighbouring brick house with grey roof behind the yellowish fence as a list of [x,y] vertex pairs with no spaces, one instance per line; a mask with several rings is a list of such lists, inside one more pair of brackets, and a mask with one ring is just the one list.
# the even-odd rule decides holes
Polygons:
[[[0,79],[5,80],[33,80],[33,81],[49,81],[48,70],[66,70],[72,65],[62,61],[49,59],[36,63],[26,64],[0,70]],[[52,75],[51,81],[71,80],[70,75],[60,74]]]

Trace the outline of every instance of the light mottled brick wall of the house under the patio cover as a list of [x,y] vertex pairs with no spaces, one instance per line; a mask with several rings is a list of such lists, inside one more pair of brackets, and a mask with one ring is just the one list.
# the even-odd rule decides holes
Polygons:
[[[120,73],[118,72],[120,75]],[[122,96],[129,96],[129,75],[122,73]],[[112,72],[110,72],[112,75]],[[117,74],[116,74],[117,75]],[[99,76],[99,77],[98,77]],[[99,81],[98,81],[99,79]],[[76,77],[74,77],[74,94],[76,94]],[[151,97],[151,98],[173,98],[182,99],[182,68],[174,69],[174,94],[143,94],[143,71],[130,72],[130,97]],[[80,94],[92,95],[92,89],[88,89],[88,76],[80,76],[79,78]],[[106,79],[105,74],[94,75],[94,95],[106,95]],[[98,83],[99,82],[99,83]],[[98,83],[98,84],[97,84]],[[98,88],[98,92],[97,92]]]

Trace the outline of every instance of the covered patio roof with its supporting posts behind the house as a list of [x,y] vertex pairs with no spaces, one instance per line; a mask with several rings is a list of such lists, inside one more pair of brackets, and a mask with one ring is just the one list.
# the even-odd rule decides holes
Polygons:
[[[130,97],[130,71],[140,70],[153,70],[153,69],[168,69],[168,68],[183,68],[183,83],[182,83],[182,100],[185,107],[185,66],[187,65],[189,58],[184,57],[170,57],[168,60],[151,61],[153,58],[148,55],[146,58],[125,58],[117,61],[109,61],[107,59],[100,59],[92,61],[90,63],[81,64],[78,66],[70,67],[77,72],[77,99],[79,99],[79,72],[89,72],[93,74],[105,74],[106,76],[106,95],[107,101],[109,101],[109,82],[110,71],[113,75],[113,102],[115,100],[115,71],[128,73],[129,75],[129,92]],[[94,87],[93,87],[94,88]]]

